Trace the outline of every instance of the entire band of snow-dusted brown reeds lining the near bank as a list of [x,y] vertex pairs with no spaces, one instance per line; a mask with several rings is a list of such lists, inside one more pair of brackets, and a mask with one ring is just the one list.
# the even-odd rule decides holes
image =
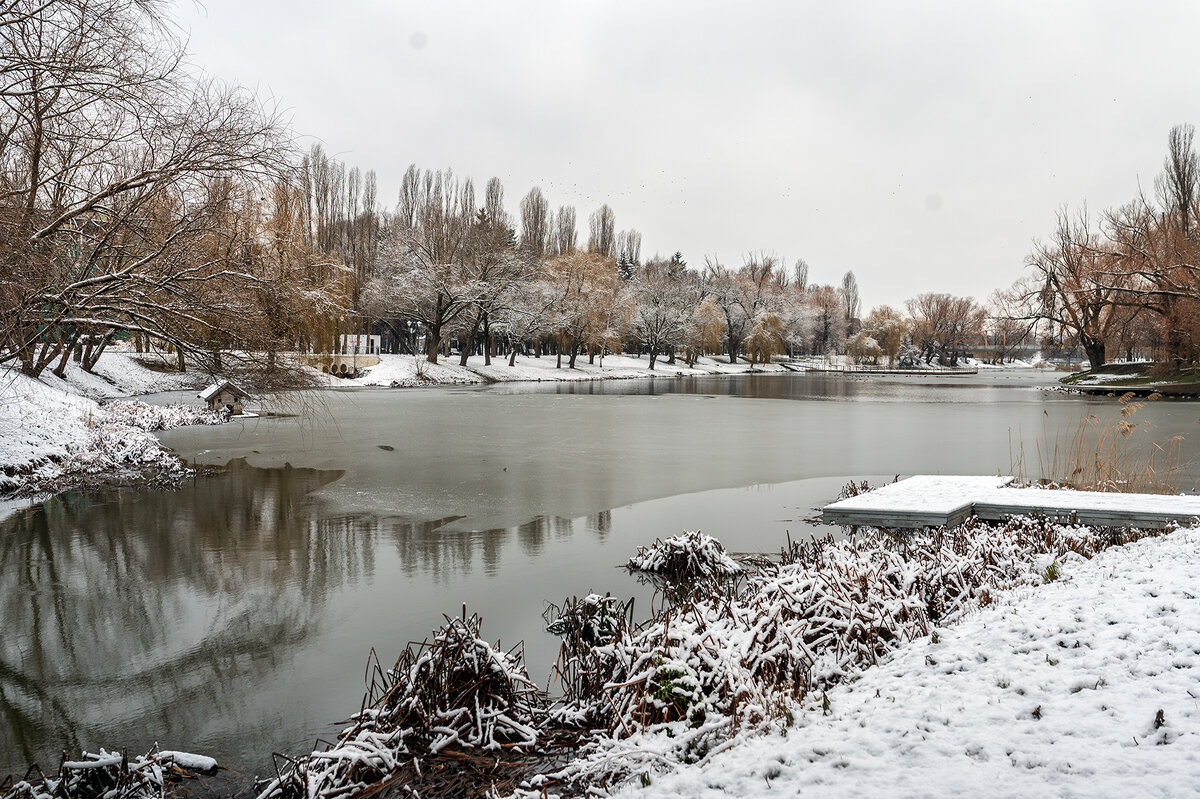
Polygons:
[[[630,566],[715,579],[704,584],[719,590],[668,594],[641,623],[632,601],[613,596],[548,605],[546,629],[562,638],[553,702],[529,681],[520,649],[482,638],[478,615],[448,618],[394,668],[377,663],[352,726],[322,751],[283,758],[259,799],[353,797],[380,785],[581,795],[649,779],[790,726],[814,696],[990,603],[994,591],[1052,579],[1054,564],[1142,535],[972,519],[905,537],[865,530],[790,542],[775,559],[742,563],[709,536],[658,541]],[[485,753],[486,769],[466,768]]]

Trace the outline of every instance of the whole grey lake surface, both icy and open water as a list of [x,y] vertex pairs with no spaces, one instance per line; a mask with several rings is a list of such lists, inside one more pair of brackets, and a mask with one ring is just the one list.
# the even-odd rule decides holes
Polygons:
[[[263,774],[358,710],[372,649],[390,665],[463,605],[488,637],[523,639],[545,681],[545,601],[646,608],[617,566],[655,537],[778,551],[836,531],[805,519],[851,479],[1008,473],[1022,440],[1036,476],[1037,441],[1117,410],[1036,388],[1054,377],[332,391],[304,417],[169,431],[188,461],[230,468],[0,521],[0,775],[155,741]],[[1135,421],[1184,434],[1194,463],[1198,413],[1160,401]]]

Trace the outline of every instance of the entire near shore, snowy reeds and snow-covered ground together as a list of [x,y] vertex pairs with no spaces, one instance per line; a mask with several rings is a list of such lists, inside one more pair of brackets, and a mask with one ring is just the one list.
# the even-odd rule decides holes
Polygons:
[[[1184,590],[1200,530],[1114,536],[1014,518],[956,528],[953,541],[943,535],[952,531],[924,531],[904,546],[870,530],[815,548],[793,545],[775,563],[733,561],[700,534],[656,541],[631,553],[629,566],[666,579],[668,590],[685,585],[684,593],[636,623],[619,620],[626,608],[616,597],[557,608],[550,629],[578,668],[564,675],[566,693],[544,708],[527,692],[520,655],[488,643],[464,609],[402,655],[404,668],[384,669],[390,681],[368,680],[374,698],[329,749],[288,753],[290,765],[274,781],[252,787],[247,775],[221,769],[197,788],[208,797],[281,799],[307,797],[312,786],[344,795],[412,788],[484,795],[500,786],[510,797],[577,797],[601,786],[612,795],[768,797],[805,787],[840,795],[865,779],[878,789],[895,780],[950,797],[980,768],[1016,780],[1003,795],[1027,795],[1046,780],[1081,789],[1115,780],[1104,782],[1111,787],[1140,780],[1145,769],[1159,787],[1187,786],[1180,780],[1196,756],[1169,767],[1156,752],[1183,757],[1163,745],[1200,734],[1194,701],[1175,696],[1193,684],[1200,661],[1180,661],[1170,637],[1154,636],[1184,620],[1187,635],[1200,636],[1195,596]],[[701,567],[672,573],[680,552],[685,569]],[[731,583],[738,570],[748,588]],[[893,579],[910,573],[958,573],[966,582],[925,595]],[[1097,602],[1102,595],[1106,601]],[[1150,606],[1163,611],[1126,612]],[[610,615],[616,626],[595,626],[606,632],[582,647],[564,632]],[[866,630],[865,618],[876,619]],[[1151,637],[1132,635],[1151,623]],[[1102,639],[1109,649],[1093,647]],[[442,707],[446,692],[437,680],[456,674],[457,659],[470,651],[467,660],[481,659],[475,667],[490,677],[455,693],[466,702],[461,709]],[[1103,665],[1114,659],[1111,668]],[[422,677],[418,662],[433,671]],[[439,690],[430,692],[425,679]],[[1115,713],[1106,713],[1109,704]],[[480,733],[470,721],[480,708],[484,716],[502,713],[504,728],[484,725]],[[421,726],[448,714],[454,725]],[[455,733],[463,741],[484,738],[463,745]],[[1136,739],[1158,746],[1135,747]],[[487,745],[500,749],[490,755]],[[1016,753],[1006,757],[1006,747]],[[862,768],[845,768],[846,758]],[[924,781],[931,768],[947,775],[932,792]]]

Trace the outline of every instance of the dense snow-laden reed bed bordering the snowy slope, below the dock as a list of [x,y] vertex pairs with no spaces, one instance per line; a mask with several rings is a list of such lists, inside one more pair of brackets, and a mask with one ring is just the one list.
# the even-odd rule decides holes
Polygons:
[[1142,535],[1014,518],[793,543],[732,595],[692,595],[574,653],[571,673],[606,683],[590,693],[568,685],[557,716],[604,733],[541,785],[583,791],[703,761],[739,732],[788,725],[806,696],[988,605],[994,591],[1046,579],[1040,564]]

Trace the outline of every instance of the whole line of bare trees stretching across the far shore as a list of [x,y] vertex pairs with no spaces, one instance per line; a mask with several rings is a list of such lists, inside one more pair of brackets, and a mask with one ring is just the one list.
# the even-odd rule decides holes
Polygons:
[[172,25],[146,0],[0,4],[0,364],[90,370],[127,337],[180,370],[286,380],[280,353],[364,332],[428,361],[454,347],[462,364],[569,367],[611,352],[649,368],[718,353],[953,366],[1031,342],[1093,366],[1200,358],[1192,126],[1171,130],[1152,199],[1096,221],[1063,210],[986,307],[930,292],[863,314],[852,271],[820,284],[770,251],[644,256],[607,204],[580,230],[533,187],[510,215],[498,178],[476,192],[413,166],[388,209],[373,170],[299,151],[272,109],[191,70]]

